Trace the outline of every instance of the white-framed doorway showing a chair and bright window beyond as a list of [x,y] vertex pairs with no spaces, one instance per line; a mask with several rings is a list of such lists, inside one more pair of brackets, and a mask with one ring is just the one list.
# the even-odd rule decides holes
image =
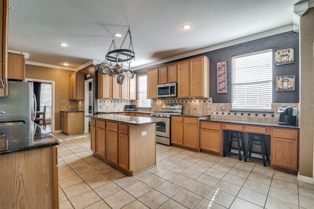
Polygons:
[[46,126],[44,126],[44,120],[36,122],[39,123],[38,125],[46,132],[54,132],[54,81],[30,78],[26,78],[25,81],[32,83],[33,92],[35,93],[37,100],[37,109],[35,111],[41,113],[37,115],[40,118],[45,114]]

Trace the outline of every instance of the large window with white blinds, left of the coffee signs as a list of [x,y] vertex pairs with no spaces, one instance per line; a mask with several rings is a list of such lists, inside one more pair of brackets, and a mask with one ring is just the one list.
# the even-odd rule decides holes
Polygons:
[[232,109],[270,111],[272,50],[232,58]]

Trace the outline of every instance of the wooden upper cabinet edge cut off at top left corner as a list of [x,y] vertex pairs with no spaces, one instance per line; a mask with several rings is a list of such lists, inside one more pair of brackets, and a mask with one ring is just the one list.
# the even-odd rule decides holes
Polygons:
[[9,1],[0,0],[0,97],[7,96],[8,14]]

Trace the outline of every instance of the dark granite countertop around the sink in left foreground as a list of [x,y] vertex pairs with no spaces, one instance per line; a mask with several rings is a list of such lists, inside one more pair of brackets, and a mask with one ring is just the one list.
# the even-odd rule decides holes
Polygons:
[[3,116],[4,121],[25,121],[26,124],[0,126],[0,155],[55,146],[60,142],[26,116]]

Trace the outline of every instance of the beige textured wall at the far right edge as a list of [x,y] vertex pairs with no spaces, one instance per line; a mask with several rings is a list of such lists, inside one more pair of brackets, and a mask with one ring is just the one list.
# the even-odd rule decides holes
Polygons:
[[300,168],[313,177],[314,139],[314,8],[300,18]]

